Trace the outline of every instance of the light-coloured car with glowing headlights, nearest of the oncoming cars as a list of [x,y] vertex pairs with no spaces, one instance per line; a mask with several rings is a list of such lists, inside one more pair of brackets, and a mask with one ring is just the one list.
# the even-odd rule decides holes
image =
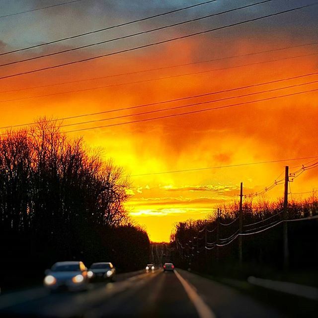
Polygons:
[[45,274],[44,286],[51,291],[79,291],[88,287],[87,268],[80,261],[57,262]]

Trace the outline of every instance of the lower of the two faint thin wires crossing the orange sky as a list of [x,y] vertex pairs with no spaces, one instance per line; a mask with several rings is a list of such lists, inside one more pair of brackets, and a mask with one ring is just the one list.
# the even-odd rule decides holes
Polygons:
[[271,63],[271,62],[277,62],[277,61],[283,61],[283,60],[296,59],[296,58],[300,58],[300,57],[313,56],[313,55],[317,55],[317,54],[318,53],[297,55],[297,56],[288,57],[288,58],[280,58],[280,59],[276,59],[276,60],[269,60],[269,61],[242,64],[242,65],[239,65],[239,66],[230,66],[230,67],[219,68],[219,69],[212,69],[212,70],[184,73],[184,74],[178,74],[178,75],[170,75],[170,76],[160,77],[160,78],[155,78],[155,79],[142,79],[142,80],[137,80],[137,81],[118,83],[118,84],[109,84],[109,85],[90,87],[90,88],[82,88],[82,89],[69,90],[69,91],[64,91],[64,92],[56,92],[56,93],[35,95],[35,96],[29,96],[29,97],[4,99],[4,100],[0,100],[0,103],[18,101],[18,100],[25,100],[25,99],[32,99],[32,98],[40,98],[40,97],[49,97],[49,96],[62,95],[62,94],[70,94],[70,93],[75,93],[75,92],[89,91],[89,90],[95,90],[95,89],[101,89],[101,88],[109,88],[109,87],[117,87],[117,86],[129,85],[129,84],[139,84],[139,83],[150,82],[150,81],[161,80],[161,79],[173,79],[173,78],[179,78],[179,77],[189,76],[189,75],[205,74],[205,73],[215,72],[215,71],[224,71],[224,70],[236,69],[236,68],[240,68],[240,67],[246,67],[246,66],[259,65],[259,64],[264,64],[264,63]]

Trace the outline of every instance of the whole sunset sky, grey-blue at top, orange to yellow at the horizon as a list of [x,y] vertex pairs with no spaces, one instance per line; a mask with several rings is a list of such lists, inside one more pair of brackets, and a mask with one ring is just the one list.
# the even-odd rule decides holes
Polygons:
[[[1,1],[0,54],[203,1],[82,0],[4,16],[52,2]],[[114,39],[256,2],[218,0],[129,26],[0,55],[0,64]],[[0,66],[0,78],[182,37],[312,2],[267,1],[144,35]],[[216,207],[237,198],[241,181],[245,194],[257,192],[271,184],[284,171],[286,164],[293,171],[301,164],[315,161],[315,158],[308,158],[150,174],[318,156],[317,14],[316,5],[131,52],[0,79],[0,126],[30,123],[41,116],[63,118],[216,92],[68,119],[62,123],[63,131],[67,131],[71,138],[83,136],[92,148],[103,149],[105,160],[112,158],[117,165],[124,167],[132,182],[129,189],[131,198],[126,204],[130,215],[148,231],[150,239],[168,240],[175,222],[204,218]],[[288,79],[294,77],[298,78]],[[284,80],[218,92],[280,79]],[[282,95],[289,96],[257,101]],[[239,105],[138,122],[233,104]],[[185,105],[188,106],[171,109]],[[166,110],[138,115],[162,109]],[[125,115],[127,117],[111,119]],[[78,124],[87,121],[92,122]],[[109,126],[130,121],[137,122]],[[72,126],[67,126],[69,124]],[[96,128],[107,125],[109,127]],[[73,130],[77,131],[71,132]],[[297,193],[317,188],[317,171],[306,171],[291,183],[291,192],[295,193],[292,198],[306,197],[310,194]],[[282,195],[283,185],[279,185],[267,192],[265,198],[277,199]]]

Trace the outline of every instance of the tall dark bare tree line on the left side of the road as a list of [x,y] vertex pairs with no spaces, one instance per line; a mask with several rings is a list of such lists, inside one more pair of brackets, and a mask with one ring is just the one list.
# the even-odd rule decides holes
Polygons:
[[0,284],[12,277],[18,284],[30,270],[42,277],[59,260],[143,267],[150,242],[124,207],[129,186],[121,167],[66,136],[56,121],[1,135],[0,255],[12,275]]

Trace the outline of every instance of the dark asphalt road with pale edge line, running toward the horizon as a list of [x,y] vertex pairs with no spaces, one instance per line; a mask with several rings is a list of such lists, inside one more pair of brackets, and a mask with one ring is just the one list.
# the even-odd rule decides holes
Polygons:
[[88,291],[50,294],[44,288],[0,296],[0,317],[282,317],[236,290],[176,270],[118,276]]

